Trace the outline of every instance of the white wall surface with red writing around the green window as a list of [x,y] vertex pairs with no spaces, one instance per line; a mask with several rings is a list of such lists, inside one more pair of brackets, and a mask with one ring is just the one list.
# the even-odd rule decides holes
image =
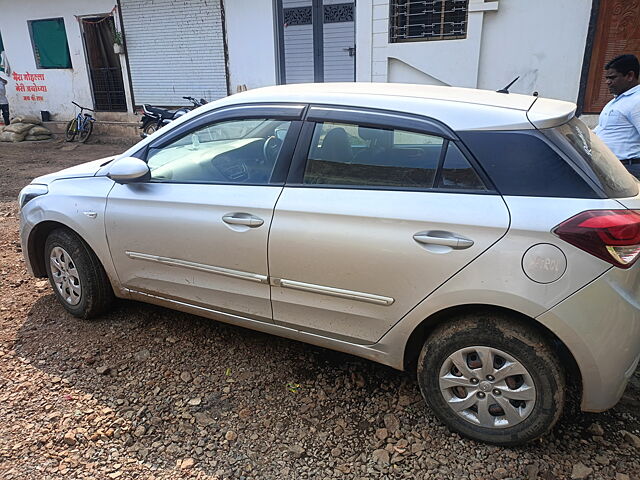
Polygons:
[[[11,69],[19,74],[44,74],[44,81],[35,82],[46,85],[47,92],[38,92],[43,101],[25,101],[23,96],[31,92],[16,92],[16,82],[7,84],[7,96],[11,115],[29,114],[40,116],[40,111],[51,112],[52,120],[69,120],[75,114],[71,101],[91,107],[91,85],[84,45],[80,33],[80,23],[75,15],[106,14],[114,7],[114,0],[29,0],[16,2],[0,0],[0,33]],[[28,20],[64,18],[67,32],[71,69],[38,69],[31,46]],[[121,57],[124,62],[124,57]],[[128,95],[127,76],[124,74],[125,89]],[[32,85],[33,82],[22,82]],[[130,99],[128,99],[130,103]]]

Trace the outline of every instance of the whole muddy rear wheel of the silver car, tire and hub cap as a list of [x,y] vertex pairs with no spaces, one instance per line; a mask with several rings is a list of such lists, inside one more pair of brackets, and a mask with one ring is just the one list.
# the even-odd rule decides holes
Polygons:
[[551,430],[564,406],[564,372],[548,340],[508,316],[465,315],[437,327],[417,370],[435,415],[481,442],[535,440]]

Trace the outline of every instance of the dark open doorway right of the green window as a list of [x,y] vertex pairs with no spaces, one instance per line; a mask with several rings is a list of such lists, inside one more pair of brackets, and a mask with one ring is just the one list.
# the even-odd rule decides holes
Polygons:
[[95,109],[102,112],[127,111],[122,66],[114,52],[115,32],[111,15],[82,19],[93,101]]

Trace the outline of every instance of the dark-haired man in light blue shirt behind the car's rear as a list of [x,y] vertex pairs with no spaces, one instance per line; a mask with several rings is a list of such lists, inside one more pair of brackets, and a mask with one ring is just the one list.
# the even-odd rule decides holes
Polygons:
[[605,65],[611,100],[594,132],[636,178],[640,178],[640,64],[635,55],[620,55]]

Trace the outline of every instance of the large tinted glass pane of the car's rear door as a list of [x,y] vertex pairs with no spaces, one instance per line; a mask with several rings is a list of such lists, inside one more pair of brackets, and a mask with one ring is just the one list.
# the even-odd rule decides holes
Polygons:
[[304,184],[432,188],[444,139],[342,123],[318,123]]

